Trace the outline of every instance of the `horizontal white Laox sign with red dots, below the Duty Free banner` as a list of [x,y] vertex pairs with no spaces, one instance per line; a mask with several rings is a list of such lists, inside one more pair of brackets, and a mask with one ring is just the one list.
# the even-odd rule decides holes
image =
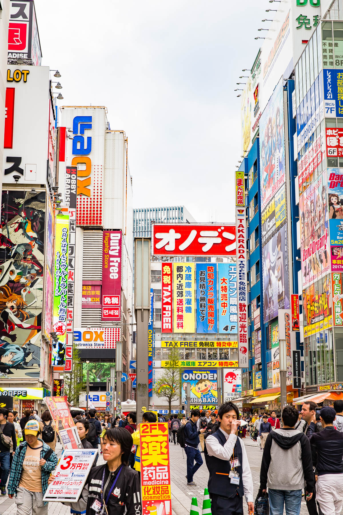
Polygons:
[[119,327],[74,329],[74,342],[78,349],[115,349],[120,340]]

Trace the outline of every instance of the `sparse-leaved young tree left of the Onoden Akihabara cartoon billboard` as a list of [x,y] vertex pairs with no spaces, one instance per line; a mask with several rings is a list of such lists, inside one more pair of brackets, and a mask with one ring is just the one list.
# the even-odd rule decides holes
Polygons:
[[179,368],[179,352],[173,347],[168,354],[169,366],[164,368],[163,374],[156,381],[154,389],[159,399],[168,401],[169,413],[171,413],[171,403],[180,396],[181,388],[181,369]]

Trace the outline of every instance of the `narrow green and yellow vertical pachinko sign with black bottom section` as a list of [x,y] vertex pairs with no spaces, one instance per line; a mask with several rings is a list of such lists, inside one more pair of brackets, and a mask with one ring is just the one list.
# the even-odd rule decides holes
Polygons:
[[56,217],[55,269],[53,273],[52,329],[58,340],[52,344],[52,366],[64,366],[67,334],[69,215],[66,211]]

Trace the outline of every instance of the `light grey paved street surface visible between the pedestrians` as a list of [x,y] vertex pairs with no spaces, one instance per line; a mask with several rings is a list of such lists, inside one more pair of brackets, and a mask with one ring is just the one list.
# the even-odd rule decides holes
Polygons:
[[[257,494],[259,487],[260,477],[260,465],[262,458],[262,451],[260,451],[258,445],[252,442],[250,438],[244,440],[246,452],[249,458],[250,468],[252,472],[252,479],[254,481],[254,498]],[[61,454],[62,446],[57,445],[57,454]],[[198,506],[202,509],[204,488],[207,487],[208,471],[204,465],[197,471],[194,476],[196,483],[195,487],[188,487],[185,478],[186,474],[186,454],[179,447],[179,445],[170,445],[170,456],[171,456],[171,490],[172,490],[172,512],[173,515],[189,515],[192,497],[197,498]],[[202,454],[202,456],[204,456]],[[204,458],[203,458],[204,459]],[[98,460],[98,464],[104,463],[101,456]],[[243,501],[244,511],[247,509],[245,501]],[[15,515],[16,507],[13,500],[9,499],[8,496],[0,497],[0,515]],[[68,507],[63,506],[61,503],[50,503],[49,504],[49,515],[65,515],[70,513]],[[301,503],[301,515],[308,513],[305,501]]]

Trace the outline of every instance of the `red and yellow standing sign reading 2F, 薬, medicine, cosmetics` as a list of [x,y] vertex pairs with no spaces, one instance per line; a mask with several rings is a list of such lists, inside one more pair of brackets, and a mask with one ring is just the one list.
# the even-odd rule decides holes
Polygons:
[[139,424],[142,513],[170,515],[168,424]]

